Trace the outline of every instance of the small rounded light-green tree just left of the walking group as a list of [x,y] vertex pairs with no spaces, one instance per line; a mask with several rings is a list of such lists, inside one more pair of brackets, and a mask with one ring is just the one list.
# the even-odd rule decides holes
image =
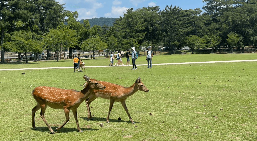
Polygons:
[[95,59],[95,50],[103,50],[106,49],[107,44],[100,40],[99,36],[91,36],[86,41],[83,41],[80,48],[83,50],[93,50],[93,55]]

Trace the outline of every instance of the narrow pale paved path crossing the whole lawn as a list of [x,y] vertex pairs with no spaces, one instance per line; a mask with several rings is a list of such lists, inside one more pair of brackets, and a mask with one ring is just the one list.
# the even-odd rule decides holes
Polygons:
[[[152,65],[174,65],[174,64],[200,64],[200,63],[225,63],[225,62],[249,62],[257,60],[232,60],[232,61],[208,61],[208,62],[184,62],[184,63],[163,63],[163,64],[152,64]],[[124,65],[126,66],[126,65]],[[132,66],[132,65],[131,65]],[[147,66],[147,64],[141,64],[137,66]],[[85,66],[89,67],[115,67],[115,66]],[[12,68],[12,69],[0,69],[1,70],[26,70],[26,69],[52,69],[52,68],[74,68],[72,67],[44,67],[44,68]]]

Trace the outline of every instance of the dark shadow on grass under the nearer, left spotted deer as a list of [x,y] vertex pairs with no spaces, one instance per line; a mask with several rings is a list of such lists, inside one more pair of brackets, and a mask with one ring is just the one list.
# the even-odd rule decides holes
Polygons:
[[[69,132],[75,132],[78,131],[77,128],[65,128],[62,127],[61,129],[59,129],[58,131],[56,131],[57,126],[53,126],[51,127],[54,131],[54,133],[69,133]],[[34,130],[34,128],[30,128],[31,130]],[[36,127],[37,130],[35,131],[39,131],[39,132],[49,132],[49,129],[47,126],[45,127]],[[99,130],[99,129],[92,129],[92,128],[80,128],[82,131],[94,131],[94,130]]]

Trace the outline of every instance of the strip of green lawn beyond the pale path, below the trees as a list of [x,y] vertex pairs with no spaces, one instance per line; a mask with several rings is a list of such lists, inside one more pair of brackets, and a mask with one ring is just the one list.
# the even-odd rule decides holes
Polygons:
[[[168,53],[167,53],[168,54]],[[154,55],[153,64],[157,63],[180,63],[180,62],[201,62],[201,61],[227,61],[227,60],[251,60],[257,59],[256,53],[232,53],[232,54],[172,54],[172,55]],[[109,58],[85,59],[85,66],[103,66],[109,65]],[[126,65],[126,57],[123,59],[123,64]],[[131,57],[130,57],[131,60]],[[117,60],[114,60],[116,63]],[[29,64],[21,63],[6,63],[0,64],[0,69],[7,68],[38,68],[38,67],[68,67],[73,66],[73,60],[60,61],[38,61],[30,62]],[[132,62],[130,62],[132,65]],[[147,64],[146,56],[139,56],[136,59],[136,64]]]

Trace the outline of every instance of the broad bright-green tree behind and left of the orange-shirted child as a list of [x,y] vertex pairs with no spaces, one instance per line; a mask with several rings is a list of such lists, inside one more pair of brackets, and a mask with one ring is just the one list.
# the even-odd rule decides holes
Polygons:
[[52,46],[52,48],[57,52],[57,61],[60,51],[67,47],[78,45],[79,37],[76,37],[76,34],[76,31],[69,29],[67,26],[58,26],[57,29],[50,29],[50,31],[45,35],[44,42],[47,46]]

